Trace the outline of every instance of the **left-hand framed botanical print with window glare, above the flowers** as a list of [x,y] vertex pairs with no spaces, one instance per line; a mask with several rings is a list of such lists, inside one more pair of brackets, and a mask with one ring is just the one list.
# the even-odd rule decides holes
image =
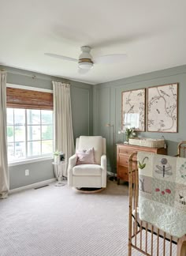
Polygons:
[[122,130],[145,130],[145,88],[122,92]]

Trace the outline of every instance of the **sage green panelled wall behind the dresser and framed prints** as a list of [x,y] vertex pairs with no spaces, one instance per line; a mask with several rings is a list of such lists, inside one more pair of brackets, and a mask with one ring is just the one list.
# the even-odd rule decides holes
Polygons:
[[[186,140],[186,66],[177,66],[167,70],[145,73],[135,77],[128,77],[117,81],[94,85],[93,134],[100,134],[103,137],[106,137],[107,155],[111,162],[113,160],[113,132],[111,128],[106,127],[105,125],[106,123],[114,124],[115,142],[123,141],[122,135],[117,134],[117,131],[121,130],[121,92],[130,89],[148,88],[155,85],[166,85],[177,82],[179,83],[178,133],[144,132],[139,134],[143,137],[152,138],[161,138],[163,135],[166,138],[166,143],[168,145],[168,154],[173,156],[177,153],[178,142]],[[108,170],[110,170],[110,161],[108,161]]]

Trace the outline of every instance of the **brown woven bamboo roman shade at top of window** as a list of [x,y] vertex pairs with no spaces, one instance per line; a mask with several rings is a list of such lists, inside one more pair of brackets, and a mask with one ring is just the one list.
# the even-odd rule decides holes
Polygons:
[[7,87],[6,107],[53,110],[53,93]]

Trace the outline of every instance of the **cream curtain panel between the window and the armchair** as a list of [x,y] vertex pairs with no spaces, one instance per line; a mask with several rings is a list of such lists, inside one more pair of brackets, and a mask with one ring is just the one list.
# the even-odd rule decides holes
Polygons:
[[[70,85],[53,81],[53,99],[55,150],[65,152],[65,161],[68,165],[69,157],[74,154]],[[68,166],[63,173],[65,177],[67,169]]]

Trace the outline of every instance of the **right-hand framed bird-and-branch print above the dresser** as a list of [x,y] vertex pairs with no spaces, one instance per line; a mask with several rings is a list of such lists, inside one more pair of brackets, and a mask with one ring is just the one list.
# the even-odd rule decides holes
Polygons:
[[147,89],[147,131],[177,133],[178,84]]

